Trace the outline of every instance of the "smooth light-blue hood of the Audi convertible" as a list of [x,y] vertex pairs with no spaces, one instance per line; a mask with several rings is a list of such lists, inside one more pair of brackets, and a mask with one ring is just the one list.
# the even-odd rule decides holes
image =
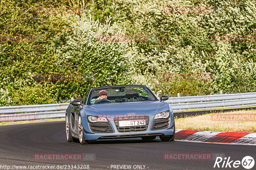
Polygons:
[[168,103],[160,101],[85,105],[84,110],[86,115],[103,116],[108,118],[137,115],[151,116],[166,110],[170,110],[172,112],[172,108],[170,108],[170,105]]

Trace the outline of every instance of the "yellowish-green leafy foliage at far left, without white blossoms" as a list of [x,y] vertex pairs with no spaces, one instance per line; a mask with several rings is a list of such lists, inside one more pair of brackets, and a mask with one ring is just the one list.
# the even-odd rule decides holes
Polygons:
[[54,50],[65,43],[74,15],[35,13],[40,5],[49,2],[1,1],[0,87],[8,90],[12,105],[52,103],[61,98],[54,83],[34,81],[33,76],[58,73]]

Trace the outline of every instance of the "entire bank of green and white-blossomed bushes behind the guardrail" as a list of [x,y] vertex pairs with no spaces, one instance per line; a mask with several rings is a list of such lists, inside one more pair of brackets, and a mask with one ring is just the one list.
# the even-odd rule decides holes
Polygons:
[[[209,13],[163,12],[208,6]],[[0,1],[0,105],[80,98],[88,88],[144,84],[155,93],[206,95],[256,91],[255,42],[214,42],[215,35],[256,35],[250,0]],[[98,35],[143,35],[100,42]],[[209,81],[166,81],[164,74],[212,74]],[[36,74],[82,74],[79,81],[35,81]]]

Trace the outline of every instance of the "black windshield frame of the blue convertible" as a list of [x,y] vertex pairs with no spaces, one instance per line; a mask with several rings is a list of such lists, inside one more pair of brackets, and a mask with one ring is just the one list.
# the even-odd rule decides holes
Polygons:
[[[91,105],[92,106],[92,104],[91,103],[89,103],[89,101],[90,101],[90,97],[91,97],[91,95],[92,95],[92,92],[94,91],[94,90],[102,90],[102,89],[110,89],[110,88],[112,88],[112,89],[118,89],[118,88],[146,88],[146,89],[148,89],[148,91],[149,91],[149,93],[151,93],[151,95],[155,98],[155,100],[152,100],[152,101],[159,101],[158,99],[157,99],[157,97],[155,96],[155,94],[147,87],[147,86],[145,86],[145,85],[114,85],[114,86],[102,86],[102,87],[97,87],[97,88],[92,88],[92,89],[90,89],[90,91],[89,91],[89,94],[88,94],[88,96],[87,96],[87,100],[86,100],[86,105]],[[143,101],[141,101],[141,102],[143,102]],[[122,103],[122,102],[121,102]],[[97,104],[98,105],[98,104]]]

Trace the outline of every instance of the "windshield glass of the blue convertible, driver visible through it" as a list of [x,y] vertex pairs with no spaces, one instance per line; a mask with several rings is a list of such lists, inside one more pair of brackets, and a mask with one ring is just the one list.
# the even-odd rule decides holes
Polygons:
[[156,98],[152,92],[145,87],[115,87],[93,90],[91,92],[88,104],[141,102],[155,100]]

